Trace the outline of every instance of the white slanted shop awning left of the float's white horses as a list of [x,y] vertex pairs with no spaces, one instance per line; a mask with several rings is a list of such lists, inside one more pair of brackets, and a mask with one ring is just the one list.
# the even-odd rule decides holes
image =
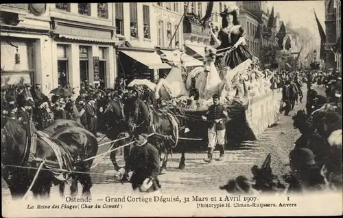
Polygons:
[[147,51],[121,51],[135,59],[137,62],[144,64],[149,69],[169,69],[171,68],[168,64],[163,64],[161,61],[160,55],[155,52],[147,52]]

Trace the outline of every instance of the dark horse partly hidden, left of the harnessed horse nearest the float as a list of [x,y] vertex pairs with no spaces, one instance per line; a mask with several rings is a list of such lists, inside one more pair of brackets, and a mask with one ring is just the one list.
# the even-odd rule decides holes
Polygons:
[[[127,133],[125,133],[128,129],[128,125],[125,121],[122,103],[125,103],[124,99],[121,99],[120,102],[119,100],[111,99],[108,105],[106,105],[104,113],[99,115],[98,131],[104,133],[106,137],[108,137],[108,139],[110,140],[116,140],[128,136]],[[117,141],[115,143],[115,147],[127,144],[130,141],[130,139],[131,138],[127,138]],[[123,151],[124,161],[126,161],[130,152],[130,147],[124,147]],[[116,154],[117,151],[110,152],[110,160],[112,161],[115,170],[119,170],[120,167],[117,164]]]

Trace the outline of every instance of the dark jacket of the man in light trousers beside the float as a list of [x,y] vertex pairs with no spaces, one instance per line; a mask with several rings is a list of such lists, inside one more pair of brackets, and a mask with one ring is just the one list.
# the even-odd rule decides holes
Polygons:
[[[215,129],[217,131],[221,131],[225,129],[225,123],[227,120],[227,111],[223,105],[211,105],[206,112],[206,118],[209,121],[213,121],[213,123],[209,124],[208,128],[212,128],[215,124]],[[214,120],[222,118],[222,122],[215,123]]]

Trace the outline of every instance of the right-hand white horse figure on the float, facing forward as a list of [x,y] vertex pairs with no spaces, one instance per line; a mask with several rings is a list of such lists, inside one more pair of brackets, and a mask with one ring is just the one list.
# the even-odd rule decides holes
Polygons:
[[213,94],[222,95],[225,90],[225,83],[222,82],[217,68],[215,68],[215,53],[216,50],[213,47],[206,46],[204,67],[194,68],[187,76],[187,90],[191,90],[195,86],[201,100],[209,100]]

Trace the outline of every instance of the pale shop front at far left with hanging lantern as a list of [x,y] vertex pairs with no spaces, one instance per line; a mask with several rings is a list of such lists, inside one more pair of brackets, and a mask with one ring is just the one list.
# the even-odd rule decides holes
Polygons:
[[1,87],[40,83],[47,94],[51,39],[46,4],[5,3],[0,10]]

